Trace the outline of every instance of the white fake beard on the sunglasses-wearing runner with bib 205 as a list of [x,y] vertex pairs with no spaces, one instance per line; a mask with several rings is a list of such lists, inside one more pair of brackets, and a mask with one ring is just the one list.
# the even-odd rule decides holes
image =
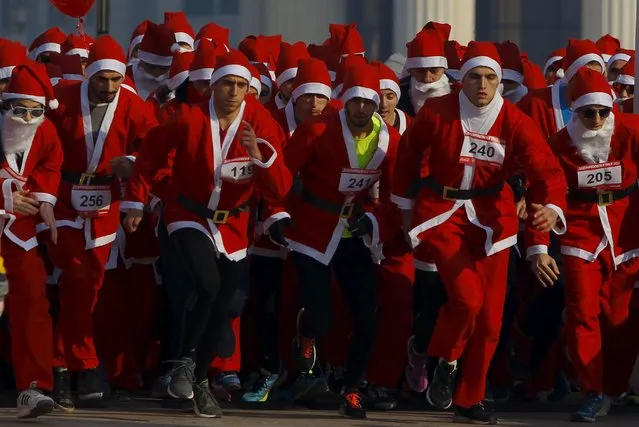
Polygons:
[[610,141],[615,131],[615,115],[611,112],[606,122],[599,130],[590,130],[581,123],[576,113],[573,113],[566,126],[572,145],[577,148],[582,159],[589,164],[608,161]]

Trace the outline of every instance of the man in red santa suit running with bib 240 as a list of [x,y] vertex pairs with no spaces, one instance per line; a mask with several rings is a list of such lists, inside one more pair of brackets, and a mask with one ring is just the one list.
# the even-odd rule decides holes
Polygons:
[[535,195],[534,225],[557,232],[565,231],[566,183],[537,127],[497,91],[495,46],[471,42],[460,71],[462,91],[426,102],[402,137],[392,197],[412,246],[433,257],[448,297],[428,347],[439,362],[427,398],[439,409],[454,403],[457,421],[496,424],[483,400],[519,224],[504,183],[517,158]]

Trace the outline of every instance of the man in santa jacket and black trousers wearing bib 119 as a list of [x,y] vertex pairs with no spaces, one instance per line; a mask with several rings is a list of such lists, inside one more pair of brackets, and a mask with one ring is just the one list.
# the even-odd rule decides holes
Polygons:
[[[248,287],[249,202],[284,198],[291,184],[282,161],[281,129],[259,101],[246,97],[248,65],[237,51],[218,56],[210,101],[184,106],[175,120],[149,135],[123,205],[129,210],[124,226],[134,232],[155,174],[175,150],[163,220],[192,286],[168,283],[181,288],[183,303],[176,315],[186,319],[168,393],[194,398],[196,414],[208,418],[222,414],[209,387],[209,366],[236,288]],[[178,291],[169,294],[178,298]]]

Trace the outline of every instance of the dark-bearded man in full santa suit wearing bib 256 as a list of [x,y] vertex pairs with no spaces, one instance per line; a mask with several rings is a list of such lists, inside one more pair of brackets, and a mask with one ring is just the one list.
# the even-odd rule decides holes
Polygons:
[[64,152],[55,206],[60,244],[47,242],[53,264],[63,271],[53,397],[69,411],[74,408],[69,371],[78,375],[81,400],[102,397],[93,309],[120,223],[118,179],[128,177],[137,145],[157,124],[144,101],[121,90],[125,71],[120,45],[109,36],[98,38],[89,53],[87,79],[59,88],[60,108],[50,114]]

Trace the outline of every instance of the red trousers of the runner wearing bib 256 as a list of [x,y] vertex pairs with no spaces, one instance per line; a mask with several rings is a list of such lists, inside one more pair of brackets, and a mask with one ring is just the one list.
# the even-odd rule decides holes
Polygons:
[[51,261],[62,270],[53,366],[66,367],[70,371],[98,366],[93,343],[93,310],[111,245],[94,249],[85,249],[85,245],[84,230],[70,227],[58,228],[57,245],[47,241]]

